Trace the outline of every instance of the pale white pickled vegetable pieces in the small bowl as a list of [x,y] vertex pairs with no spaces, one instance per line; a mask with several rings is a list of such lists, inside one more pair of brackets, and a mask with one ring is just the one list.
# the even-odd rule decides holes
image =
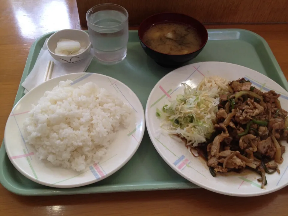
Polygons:
[[60,39],[57,42],[55,54],[57,55],[76,55],[85,50],[85,47],[81,47],[79,41],[73,41],[69,39]]

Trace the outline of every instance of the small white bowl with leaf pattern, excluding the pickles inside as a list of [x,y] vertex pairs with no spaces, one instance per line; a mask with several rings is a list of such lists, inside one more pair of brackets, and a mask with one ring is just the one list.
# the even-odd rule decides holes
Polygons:
[[[73,41],[79,41],[81,47],[86,47],[86,49],[76,55],[57,55],[55,54],[55,49],[57,47],[57,42],[59,39],[70,39]],[[55,32],[47,41],[47,49],[50,55],[57,61],[61,63],[76,63],[88,57],[91,50],[91,43],[89,40],[89,35],[77,29],[63,29]]]

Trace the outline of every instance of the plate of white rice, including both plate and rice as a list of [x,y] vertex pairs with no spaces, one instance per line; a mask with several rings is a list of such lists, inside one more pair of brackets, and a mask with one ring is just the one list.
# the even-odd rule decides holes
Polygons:
[[4,143],[16,169],[50,187],[98,182],[137,151],[144,110],[124,83],[96,73],[50,79],[29,91],[8,117]]

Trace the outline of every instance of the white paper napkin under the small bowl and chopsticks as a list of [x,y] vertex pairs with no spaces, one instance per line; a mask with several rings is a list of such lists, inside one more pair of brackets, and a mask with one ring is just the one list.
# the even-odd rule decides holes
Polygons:
[[56,61],[54,58],[52,58],[49,51],[47,50],[47,40],[48,39],[46,39],[43,47],[41,48],[41,51],[39,52],[33,69],[22,83],[22,86],[25,88],[24,94],[43,82],[45,70],[50,60],[54,61],[54,68],[51,74],[51,78],[54,78],[56,76],[61,76],[68,73],[85,72],[93,59],[93,50],[91,49],[89,57],[82,61],[74,64],[60,63],[59,61]]

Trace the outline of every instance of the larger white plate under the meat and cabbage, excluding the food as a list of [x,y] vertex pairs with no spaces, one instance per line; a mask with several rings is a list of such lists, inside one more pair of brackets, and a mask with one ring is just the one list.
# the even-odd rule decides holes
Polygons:
[[265,189],[261,189],[257,182],[260,177],[251,172],[212,177],[206,163],[191,155],[183,143],[178,143],[170,136],[160,133],[160,120],[155,115],[156,108],[161,110],[164,104],[169,104],[168,97],[175,99],[176,95],[183,94],[181,82],[196,87],[204,75],[218,75],[230,81],[244,77],[249,79],[253,86],[262,87],[262,91],[276,90],[281,94],[279,100],[282,107],[286,110],[288,108],[288,93],[270,78],[247,67],[224,62],[200,62],[180,67],[168,73],[155,85],[147,101],[146,126],[158,153],[181,176],[200,187],[217,193],[232,196],[258,196],[285,187],[288,183],[288,145],[286,142],[282,142],[282,145],[286,146],[286,153],[283,155],[284,162],[279,167],[281,174],[266,174],[268,184]]

